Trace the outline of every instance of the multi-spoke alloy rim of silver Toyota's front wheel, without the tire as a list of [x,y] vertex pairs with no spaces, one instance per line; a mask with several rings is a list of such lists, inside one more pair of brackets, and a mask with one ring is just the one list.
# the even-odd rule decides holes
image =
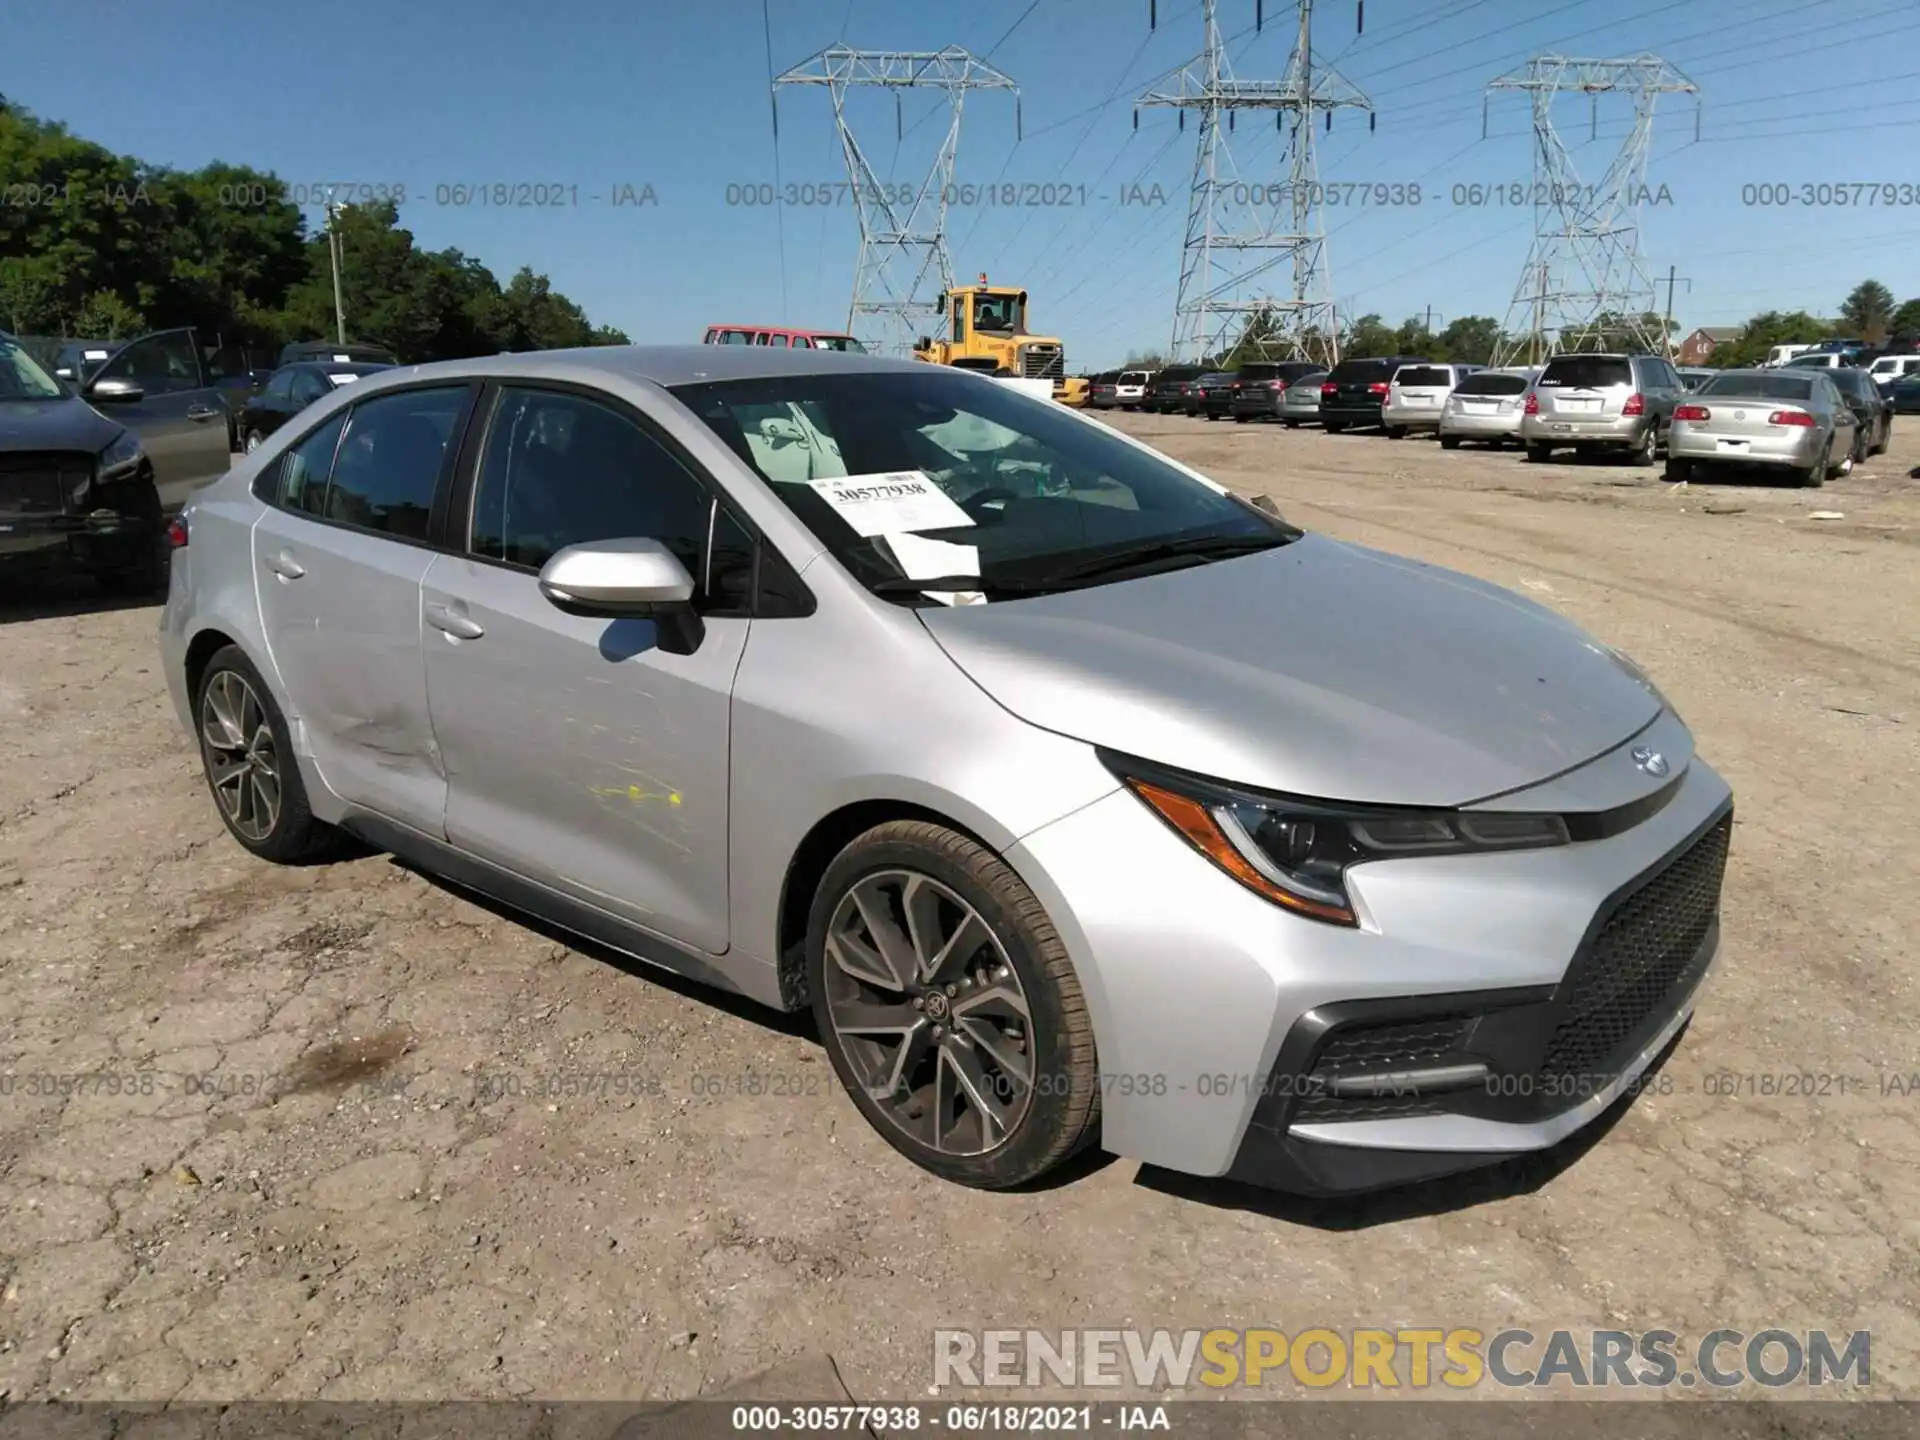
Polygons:
[[856,1083],[943,1156],[1004,1144],[1033,1100],[1033,1021],[1006,947],[914,870],[858,879],[826,933],[826,1004]]

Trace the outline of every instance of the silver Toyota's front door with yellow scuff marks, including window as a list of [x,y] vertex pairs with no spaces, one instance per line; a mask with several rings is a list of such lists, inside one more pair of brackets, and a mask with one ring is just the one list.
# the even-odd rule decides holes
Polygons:
[[703,574],[712,492],[630,413],[501,388],[467,553],[422,588],[447,839],[645,929],[728,948],[728,735],[747,618],[691,643],[555,609],[564,545],[651,538]]

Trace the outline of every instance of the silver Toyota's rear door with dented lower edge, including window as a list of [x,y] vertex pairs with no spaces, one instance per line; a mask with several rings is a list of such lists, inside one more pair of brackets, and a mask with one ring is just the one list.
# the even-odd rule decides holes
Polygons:
[[[420,582],[476,386],[392,390],[261,476],[253,572],[296,747],[349,804],[440,837],[447,781],[426,710]],[[438,636],[436,636],[438,639]]]

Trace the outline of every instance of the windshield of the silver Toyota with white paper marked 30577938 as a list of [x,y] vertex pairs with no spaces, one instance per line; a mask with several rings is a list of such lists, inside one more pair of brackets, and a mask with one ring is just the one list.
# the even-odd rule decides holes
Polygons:
[[[862,584],[1031,593],[1298,530],[1052,401],[941,367],[676,386]],[[1152,555],[1148,555],[1152,551]],[[1069,574],[1071,572],[1071,574]]]

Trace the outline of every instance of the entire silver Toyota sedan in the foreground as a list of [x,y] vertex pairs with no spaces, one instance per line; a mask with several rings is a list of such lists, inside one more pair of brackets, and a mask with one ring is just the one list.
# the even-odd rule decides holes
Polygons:
[[948,367],[390,371],[177,538],[163,668],[240,845],[346,831],[810,1008],[968,1185],[1538,1150],[1718,947],[1732,797],[1630,660]]

